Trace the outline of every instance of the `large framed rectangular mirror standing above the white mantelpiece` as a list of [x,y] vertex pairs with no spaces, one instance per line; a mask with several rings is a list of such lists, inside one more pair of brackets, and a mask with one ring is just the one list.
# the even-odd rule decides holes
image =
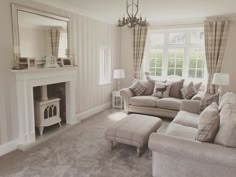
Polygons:
[[15,65],[19,69],[64,66],[72,63],[69,49],[69,18],[16,4],[13,8]]

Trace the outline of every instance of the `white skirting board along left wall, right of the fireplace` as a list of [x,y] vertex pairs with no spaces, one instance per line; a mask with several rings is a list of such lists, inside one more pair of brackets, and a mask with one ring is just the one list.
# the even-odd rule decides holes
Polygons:
[[93,116],[94,114],[104,111],[110,107],[111,107],[111,102],[103,104],[103,105],[95,107],[95,108],[92,108],[92,109],[82,112],[80,114],[77,114],[76,117],[77,117],[78,121],[82,121],[83,119]]

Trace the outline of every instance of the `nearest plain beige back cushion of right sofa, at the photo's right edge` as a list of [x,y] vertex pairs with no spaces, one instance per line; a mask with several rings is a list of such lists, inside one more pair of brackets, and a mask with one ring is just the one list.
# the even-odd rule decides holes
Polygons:
[[215,143],[236,148],[236,105],[228,104],[221,110]]

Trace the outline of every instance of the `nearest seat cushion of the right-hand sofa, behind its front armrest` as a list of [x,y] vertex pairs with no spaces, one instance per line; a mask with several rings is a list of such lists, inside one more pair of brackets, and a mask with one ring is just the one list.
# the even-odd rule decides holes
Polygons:
[[197,128],[187,127],[176,123],[171,123],[167,128],[166,135],[177,136],[184,139],[194,140],[197,135]]

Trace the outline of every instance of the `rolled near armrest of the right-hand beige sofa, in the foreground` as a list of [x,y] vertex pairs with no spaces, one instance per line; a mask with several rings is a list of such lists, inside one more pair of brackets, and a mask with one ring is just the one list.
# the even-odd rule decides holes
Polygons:
[[148,147],[153,152],[173,156],[173,158],[181,157],[199,163],[204,162],[236,168],[235,148],[157,133],[151,134]]

